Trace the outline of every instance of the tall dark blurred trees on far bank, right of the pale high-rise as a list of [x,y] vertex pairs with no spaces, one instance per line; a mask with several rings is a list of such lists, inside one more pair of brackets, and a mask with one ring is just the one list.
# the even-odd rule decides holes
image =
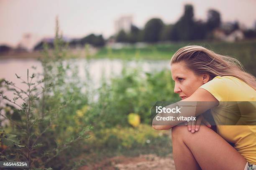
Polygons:
[[[135,25],[131,26],[130,32],[120,30],[115,36],[117,42],[148,42],[159,41],[185,41],[185,40],[203,40],[212,37],[212,31],[221,26],[221,15],[217,10],[208,10],[207,20],[195,20],[194,9],[192,5],[184,6],[184,13],[174,24],[164,24],[160,18],[148,20],[143,29]],[[231,30],[239,29],[238,22],[234,22]],[[229,33],[227,32],[227,33]],[[252,36],[252,32],[248,36]],[[255,34],[255,33],[254,33]],[[255,37],[255,35],[254,35]]]

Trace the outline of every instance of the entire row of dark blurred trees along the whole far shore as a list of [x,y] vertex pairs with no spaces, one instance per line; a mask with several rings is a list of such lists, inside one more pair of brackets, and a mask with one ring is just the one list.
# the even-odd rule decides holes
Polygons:
[[[165,24],[160,18],[152,18],[146,22],[143,28],[131,25],[130,32],[120,30],[116,35],[111,36],[107,40],[102,35],[90,34],[83,38],[73,39],[69,41],[70,47],[84,46],[90,44],[94,47],[102,47],[105,43],[112,39],[115,42],[136,43],[147,42],[155,43],[159,41],[186,41],[186,40],[205,40],[212,39],[213,30],[220,28],[222,24],[221,15],[217,10],[210,9],[207,11],[207,20],[196,20],[194,18],[194,8],[192,5],[184,5],[184,13],[174,24]],[[229,34],[239,29],[239,23],[236,21],[231,23],[229,30],[224,30],[225,34]],[[256,26],[254,29],[243,31],[246,38],[256,37]],[[38,42],[33,48],[34,50],[42,50],[44,40]],[[54,46],[54,40],[47,42],[48,46]],[[1,51],[9,51],[5,46],[0,47]]]

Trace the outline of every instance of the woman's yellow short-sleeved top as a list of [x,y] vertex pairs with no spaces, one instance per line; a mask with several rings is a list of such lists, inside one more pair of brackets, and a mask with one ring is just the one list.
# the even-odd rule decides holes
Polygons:
[[[233,76],[214,77],[200,88],[210,92],[220,102],[220,105],[211,109],[217,133],[226,141],[234,143],[234,148],[248,163],[256,164],[256,90]],[[234,101],[236,106],[232,104]],[[241,104],[242,101],[247,104]],[[240,119],[236,119],[237,115]],[[237,124],[229,124],[228,121],[232,119]]]

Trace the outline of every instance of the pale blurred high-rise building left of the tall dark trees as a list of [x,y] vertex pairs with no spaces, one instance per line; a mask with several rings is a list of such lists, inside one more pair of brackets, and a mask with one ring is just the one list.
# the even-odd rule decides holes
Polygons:
[[131,15],[120,17],[118,20],[115,21],[116,33],[118,33],[120,30],[130,32],[132,23],[133,17]]

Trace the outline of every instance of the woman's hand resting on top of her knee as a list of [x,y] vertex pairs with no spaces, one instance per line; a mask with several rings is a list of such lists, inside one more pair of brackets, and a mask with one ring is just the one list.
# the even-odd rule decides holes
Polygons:
[[199,130],[201,123],[205,124],[208,128],[211,128],[212,126],[210,123],[204,119],[203,115],[197,116],[197,120],[191,120],[189,122],[184,122],[185,126],[187,126],[187,130],[191,131],[191,133],[195,133]]

